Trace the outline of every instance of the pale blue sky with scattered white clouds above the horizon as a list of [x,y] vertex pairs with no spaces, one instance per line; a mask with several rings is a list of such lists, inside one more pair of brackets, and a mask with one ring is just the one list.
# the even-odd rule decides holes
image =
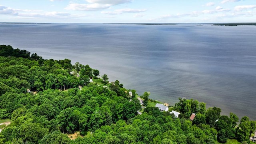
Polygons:
[[256,22],[256,0],[0,0],[0,22]]

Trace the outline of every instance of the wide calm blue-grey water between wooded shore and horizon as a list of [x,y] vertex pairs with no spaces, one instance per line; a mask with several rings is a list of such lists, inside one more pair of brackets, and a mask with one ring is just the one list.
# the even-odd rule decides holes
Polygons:
[[88,64],[138,94],[256,120],[256,26],[0,24],[0,44]]

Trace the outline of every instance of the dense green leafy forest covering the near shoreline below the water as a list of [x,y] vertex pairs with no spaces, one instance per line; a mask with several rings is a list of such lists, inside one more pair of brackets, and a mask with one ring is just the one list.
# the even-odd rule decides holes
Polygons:
[[[89,65],[0,45],[0,120],[11,121],[0,144],[253,143],[256,121],[247,116],[239,121],[232,112],[220,115],[220,108],[186,98],[160,112],[147,106],[148,96],[140,96],[142,110],[136,90],[108,82],[107,74]],[[180,112],[178,118],[172,110]]]

